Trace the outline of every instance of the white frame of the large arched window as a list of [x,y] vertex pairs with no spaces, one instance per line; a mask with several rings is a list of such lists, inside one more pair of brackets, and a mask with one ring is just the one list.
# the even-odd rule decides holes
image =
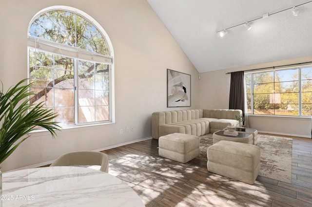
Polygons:
[[[103,37],[106,40],[108,49],[109,49],[109,54],[110,55],[103,55],[99,54],[96,52],[89,52],[85,50],[81,50],[79,48],[74,48],[71,46],[59,44],[56,42],[48,41],[42,38],[36,38],[33,36],[30,36],[30,27],[32,23],[42,14],[50,12],[50,11],[68,11],[71,13],[75,13],[81,17],[84,17],[88,21],[90,21],[97,29],[98,31],[103,35]],[[110,69],[109,69],[109,76],[110,76],[110,81],[109,81],[109,120],[108,121],[94,121],[94,122],[86,122],[86,123],[78,123],[78,94],[77,90],[75,89],[75,123],[73,125],[64,125],[62,126],[63,128],[68,128],[68,127],[76,127],[76,126],[85,126],[85,125],[97,125],[97,124],[108,124],[108,123],[115,123],[115,72],[114,72],[114,50],[113,50],[113,45],[112,42],[110,41],[109,36],[105,32],[105,30],[102,28],[102,26],[91,16],[86,14],[85,12],[78,10],[73,7],[68,7],[68,6],[51,6],[48,8],[45,8],[41,11],[39,11],[30,21],[28,25],[28,32],[27,32],[27,75],[28,78],[30,78],[29,74],[29,50],[30,48],[33,49],[38,49],[39,51],[43,52],[48,52],[48,53],[54,53],[57,55],[62,55],[70,58],[74,58],[75,60],[75,65],[77,64],[78,59],[79,60],[85,60],[85,61],[90,61],[90,62],[98,62],[98,63],[104,63],[108,64]],[[76,67],[75,67],[76,68]],[[75,69],[75,74],[77,74],[77,70]],[[77,75],[75,78],[75,81],[77,82]]]

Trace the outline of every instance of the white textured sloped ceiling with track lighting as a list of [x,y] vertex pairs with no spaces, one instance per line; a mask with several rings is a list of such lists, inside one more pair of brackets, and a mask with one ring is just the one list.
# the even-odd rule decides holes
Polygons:
[[199,72],[312,56],[312,2],[271,15],[307,0],[147,1]]

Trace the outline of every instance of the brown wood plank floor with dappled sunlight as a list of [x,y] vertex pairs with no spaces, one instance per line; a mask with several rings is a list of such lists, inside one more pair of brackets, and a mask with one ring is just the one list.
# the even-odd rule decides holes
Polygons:
[[128,183],[146,207],[312,207],[312,139],[293,138],[292,184],[258,176],[254,185],[160,157],[158,140],[102,151],[109,173]]

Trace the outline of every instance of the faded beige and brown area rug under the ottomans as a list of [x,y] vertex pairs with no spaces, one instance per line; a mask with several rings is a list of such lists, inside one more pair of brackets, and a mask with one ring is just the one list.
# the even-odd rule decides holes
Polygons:
[[[212,134],[200,138],[199,159],[207,161],[207,148],[213,144]],[[259,135],[261,168],[259,175],[286,183],[292,182],[292,138]]]

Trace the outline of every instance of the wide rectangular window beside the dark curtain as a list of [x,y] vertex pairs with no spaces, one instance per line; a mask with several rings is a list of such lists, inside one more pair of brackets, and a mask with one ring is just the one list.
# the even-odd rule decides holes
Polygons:
[[249,114],[312,116],[312,67],[245,73]]

